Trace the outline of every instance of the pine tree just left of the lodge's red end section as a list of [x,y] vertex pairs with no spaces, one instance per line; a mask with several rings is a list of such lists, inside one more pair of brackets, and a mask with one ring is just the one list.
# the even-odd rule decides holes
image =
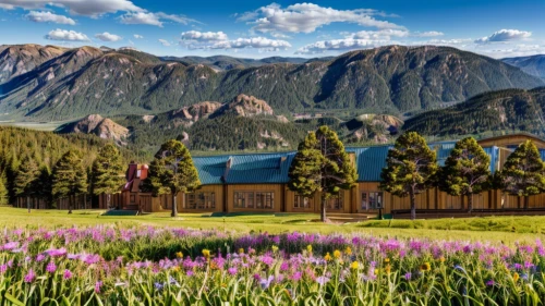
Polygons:
[[92,170],[93,193],[107,195],[107,207],[110,207],[111,195],[120,192],[124,182],[123,160],[113,144],[107,144],[98,152]]

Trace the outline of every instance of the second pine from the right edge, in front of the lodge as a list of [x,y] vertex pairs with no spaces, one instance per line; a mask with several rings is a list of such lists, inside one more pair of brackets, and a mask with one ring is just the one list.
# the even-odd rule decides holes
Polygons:
[[473,137],[459,140],[439,171],[439,189],[452,196],[468,197],[473,210],[473,195],[491,187],[491,157]]

